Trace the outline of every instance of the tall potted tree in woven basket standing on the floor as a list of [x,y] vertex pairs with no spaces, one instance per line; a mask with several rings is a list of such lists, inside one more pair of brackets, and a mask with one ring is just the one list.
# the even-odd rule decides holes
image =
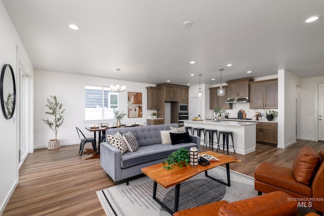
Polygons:
[[53,116],[53,120],[50,120],[49,118],[43,118],[42,121],[45,121],[45,123],[52,129],[55,134],[55,140],[49,140],[47,148],[49,150],[59,149],[60,140],[57,139],[57,132],[64,121],[63,113],[65,109],[62,109],[63,104],[57,100],[57,97],[55,95],[51,95],[49,98],[47,98],[47,104],[45,106],[49,109],[49,111],[45,113]]

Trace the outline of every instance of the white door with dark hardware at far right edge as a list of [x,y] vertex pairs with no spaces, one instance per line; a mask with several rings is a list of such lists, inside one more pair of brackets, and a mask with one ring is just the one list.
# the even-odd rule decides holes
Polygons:
[[318,83],[318,141],[324,141],[324,83]]

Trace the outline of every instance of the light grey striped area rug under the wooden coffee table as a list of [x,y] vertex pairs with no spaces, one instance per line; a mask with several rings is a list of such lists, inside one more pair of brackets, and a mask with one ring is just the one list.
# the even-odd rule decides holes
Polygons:
[[[216,179],[227,181],[226,168],[224,167],[219,166],[210,169],[208,174]],[[205,177],[205,172],[182,183],[180,187],[179,210],[219,200],[234,202],[257,196],[258,193],[254,190],[254,178],[232,170],[230,178],[230,187]],[[148,177],[130,181],[128,186],[124,183],[97,191],[100,203],[107,215],[170,216],[169,212],[153,200],[152,193],[153,180]],[[174,206],[174,196],[175,187],[164,189],[159,185],[157,186],[156,197],[159,200],[163,200],[163,203],[171,209]]]

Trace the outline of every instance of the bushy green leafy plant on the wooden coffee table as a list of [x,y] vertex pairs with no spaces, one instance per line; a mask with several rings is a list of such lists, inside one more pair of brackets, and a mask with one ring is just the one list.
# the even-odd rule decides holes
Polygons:
[[172,152],[164,161],[163,168],[172,169],[171,164],[177,163],[180,167],[186,166],[189,163],[190,152],[188,149],[180,148]]

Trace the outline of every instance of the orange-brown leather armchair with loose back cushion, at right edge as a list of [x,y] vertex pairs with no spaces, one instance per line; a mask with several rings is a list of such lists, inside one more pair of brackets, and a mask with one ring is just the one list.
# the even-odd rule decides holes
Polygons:
[[299,207],[324,212],[324,151],[302,148],[292,168],[262,162],[254,178],[259,195],[282,191],[297,198]]

